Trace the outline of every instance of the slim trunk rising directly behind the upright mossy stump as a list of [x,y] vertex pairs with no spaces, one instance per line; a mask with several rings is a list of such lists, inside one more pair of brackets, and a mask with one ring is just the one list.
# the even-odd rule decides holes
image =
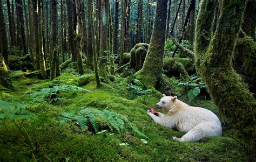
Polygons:
[[138,5],[138,18],[137,18],[137,30],[136,30],[136,44],[143,43],[142,39],[142,20],[143,20],[143,0],[139,0]]

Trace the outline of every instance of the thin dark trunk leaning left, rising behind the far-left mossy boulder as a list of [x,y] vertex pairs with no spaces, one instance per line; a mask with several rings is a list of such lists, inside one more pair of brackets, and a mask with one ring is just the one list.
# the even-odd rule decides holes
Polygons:
[[25,29],[24,29],[24,19],[23,19],[23,11],[22,11],[22,1],[16,0],[16,12],[18,17],[17,28],[20,31],[20,38],[21,38],[21,46],[23,50],[23,55],[27,54],[26,50],[26,37],[25,37]]

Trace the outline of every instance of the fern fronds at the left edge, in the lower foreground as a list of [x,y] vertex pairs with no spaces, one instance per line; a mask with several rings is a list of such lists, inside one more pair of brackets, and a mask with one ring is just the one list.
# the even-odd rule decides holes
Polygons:
[[33,113],[26,110],[26,107],[28,107],[28,105],[19,102],[6,102],[0,100],[0,124],[6,119],[15,121],[32,118]]

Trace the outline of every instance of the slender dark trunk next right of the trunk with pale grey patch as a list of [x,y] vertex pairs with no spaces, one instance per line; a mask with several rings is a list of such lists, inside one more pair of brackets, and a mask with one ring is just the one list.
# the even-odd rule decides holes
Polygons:
[[115,8],[114,8],[114,27],[113,27],[113,53],[118,54],[118,6],[119,2],[118,0],[114,1]]

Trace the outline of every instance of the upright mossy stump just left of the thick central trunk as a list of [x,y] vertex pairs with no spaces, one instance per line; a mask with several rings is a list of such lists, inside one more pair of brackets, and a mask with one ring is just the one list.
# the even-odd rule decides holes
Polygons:
[[143,67],[149,44],[138,43],[131,50],[130,68],[139,71]]

